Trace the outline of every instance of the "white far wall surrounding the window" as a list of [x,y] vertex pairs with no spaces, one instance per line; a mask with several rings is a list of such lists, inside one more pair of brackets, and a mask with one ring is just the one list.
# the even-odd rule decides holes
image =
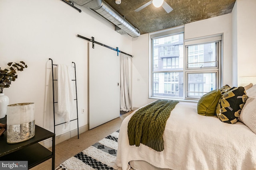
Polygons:
[[[232,15],[226,14],[202,21],[196,21],[185,25],[185,39],[203,37],[223,33],[223,84],[232,84]],[[141,107],[152,99],[148,98],[148,34],[133,38],[133,107]],[[230,64],[231,63],[231,64]],[[138,81],[140,79],[140,81]]]

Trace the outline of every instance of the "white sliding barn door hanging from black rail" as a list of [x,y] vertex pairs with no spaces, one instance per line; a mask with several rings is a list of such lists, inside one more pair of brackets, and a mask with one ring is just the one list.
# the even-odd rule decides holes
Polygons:
[[120,115],[120,58],[116,51],[92,43],[89,48],[89,129]]

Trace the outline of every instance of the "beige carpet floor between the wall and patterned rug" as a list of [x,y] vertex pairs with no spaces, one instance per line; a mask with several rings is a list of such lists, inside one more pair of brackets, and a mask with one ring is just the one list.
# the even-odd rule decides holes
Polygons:
[[[121,115],[120,117],[104,123],[98,127],[95,127],[91,130],[88,130],[79,135],[79,139],[77,136],[72,137],[62,143],[55,145],[55,168],[59,166],[62,162],[74,156],[75,154],[81,152],[82,150],[90,147],[94,143],[100,141],[104,137],[110,135],[114,131],[120,129],[120,125],[124,118],[128,116],[132,111]],[[51,170],[52,169],[52,159],[49,159],[31,170]]]

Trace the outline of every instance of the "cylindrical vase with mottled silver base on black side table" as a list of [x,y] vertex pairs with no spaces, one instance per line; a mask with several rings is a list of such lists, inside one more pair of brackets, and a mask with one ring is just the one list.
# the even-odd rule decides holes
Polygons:
[[20,143],[35,136],[35,104],[7,106],[7,143]]

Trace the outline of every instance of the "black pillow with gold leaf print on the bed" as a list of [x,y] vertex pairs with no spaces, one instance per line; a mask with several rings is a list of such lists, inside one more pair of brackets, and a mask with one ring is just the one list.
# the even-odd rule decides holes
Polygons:
[[216,107],[216,116],[225,123],[236,123],[247,99],[244,87],[232,88],[221,96]]

